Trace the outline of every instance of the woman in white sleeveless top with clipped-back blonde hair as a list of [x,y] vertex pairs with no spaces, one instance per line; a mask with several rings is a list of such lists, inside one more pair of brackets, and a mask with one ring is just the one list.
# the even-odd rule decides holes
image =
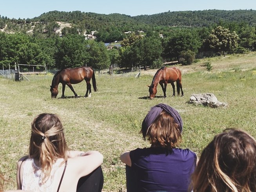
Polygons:
[[56,114],[43,113],[34,118],[29,156],[17,163],[18,189],[36,192],[102,190],[102,154],[68,151],[63,131]]

